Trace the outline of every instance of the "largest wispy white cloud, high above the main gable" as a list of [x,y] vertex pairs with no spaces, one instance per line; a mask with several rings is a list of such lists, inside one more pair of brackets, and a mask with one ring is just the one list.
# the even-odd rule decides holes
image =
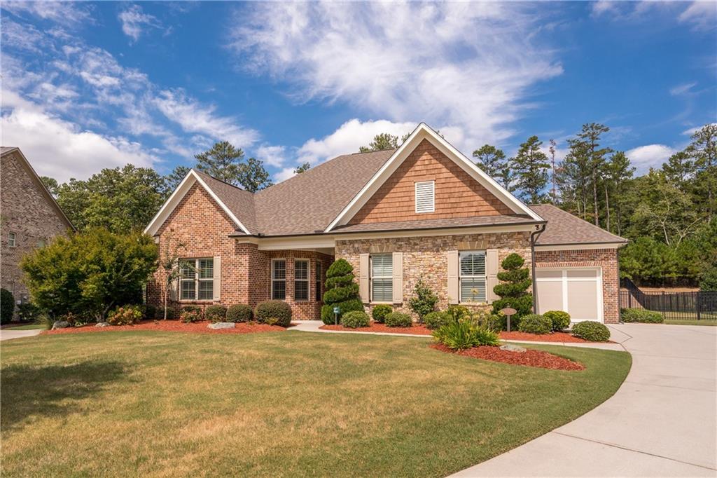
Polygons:
[[295,100],[341,100],[394,123],[462,128],[500,143],[541,80],[562,72],[518,3],[252,4],[232,32],[242,65],[293,85]]

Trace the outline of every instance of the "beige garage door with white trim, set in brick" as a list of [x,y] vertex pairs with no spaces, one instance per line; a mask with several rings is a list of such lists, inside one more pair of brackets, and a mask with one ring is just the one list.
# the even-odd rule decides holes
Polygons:
[[538,313],[564,310],[573,322],[602,322],[600,268],[538,268]]

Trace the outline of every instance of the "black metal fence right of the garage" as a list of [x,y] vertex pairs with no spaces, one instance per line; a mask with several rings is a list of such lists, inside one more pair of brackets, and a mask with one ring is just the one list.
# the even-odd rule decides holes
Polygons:
[[619,291],[620,309],[647,309],[665,320],[717,321],[717,292],[643,292],[631,281]]

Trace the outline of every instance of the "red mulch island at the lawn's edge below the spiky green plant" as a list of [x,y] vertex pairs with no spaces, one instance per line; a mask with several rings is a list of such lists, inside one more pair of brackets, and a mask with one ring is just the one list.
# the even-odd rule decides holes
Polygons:
[[526,352],[509,352],[508,350],[500,350],[500,347],[484,345],[482,347],[473,347],[472,349],[456,352],[442,344],[433,344],[430,347],[440,350],[441,352],[491,360],[493,362],[503,362],[511,365],[549,368],[551,370],[585,370],[585,366],[580,362],[573,362],[572,360],[558,357],[557,355],[549,354],[542,350],[528,349]]

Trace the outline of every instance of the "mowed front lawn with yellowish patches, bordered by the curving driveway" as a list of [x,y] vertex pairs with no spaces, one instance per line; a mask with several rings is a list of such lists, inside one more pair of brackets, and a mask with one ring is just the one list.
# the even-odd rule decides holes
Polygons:
[[589,411],[631,364],[541,346],[587,366],[543,370],[429,343],[149,331],[4,342],[3,476],[440,477]]

